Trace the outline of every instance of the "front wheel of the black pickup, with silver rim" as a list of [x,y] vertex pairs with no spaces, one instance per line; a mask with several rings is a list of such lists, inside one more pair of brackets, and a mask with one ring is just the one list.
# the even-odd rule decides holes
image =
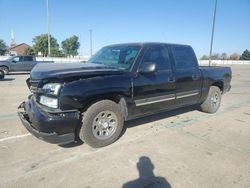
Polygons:
[[111,100],[96,102],[82,114],[79,138],[94,148],[107,146],[119,138],[123,123],[118,104]]

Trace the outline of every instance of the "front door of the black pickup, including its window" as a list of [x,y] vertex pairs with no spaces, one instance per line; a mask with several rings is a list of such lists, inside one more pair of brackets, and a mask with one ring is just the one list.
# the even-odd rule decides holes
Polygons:
[[133,80],[134,116],[171,109],[175,101],[175,78],[168,49],[163,45],[146,49],[138,70],[147,63],[155,63],[155,72],[140,73]]

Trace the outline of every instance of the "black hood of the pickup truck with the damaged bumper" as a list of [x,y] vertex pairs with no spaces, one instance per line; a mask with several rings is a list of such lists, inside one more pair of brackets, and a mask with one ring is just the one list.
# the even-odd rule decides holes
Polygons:
[[38,63],[31,71],[32,80],[45,78],[91,77],[118,74],[123,71],[94,63]]

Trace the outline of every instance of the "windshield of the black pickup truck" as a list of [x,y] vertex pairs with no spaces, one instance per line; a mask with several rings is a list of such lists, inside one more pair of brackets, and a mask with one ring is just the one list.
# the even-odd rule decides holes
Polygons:
[[129,69],[138,55],[140,46],[109,46],[104,47],[91,57],[88,63],[107,65],[117,69]]

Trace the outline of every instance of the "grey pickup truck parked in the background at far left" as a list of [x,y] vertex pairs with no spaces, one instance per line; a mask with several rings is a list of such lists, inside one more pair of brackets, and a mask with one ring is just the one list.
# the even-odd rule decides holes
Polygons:
[[29,55],[11,56],[4,61],[0,61],[0,70],[4,74],[31,71],[37,63],[53,63],[53,61],[37,61],[35,56]]

